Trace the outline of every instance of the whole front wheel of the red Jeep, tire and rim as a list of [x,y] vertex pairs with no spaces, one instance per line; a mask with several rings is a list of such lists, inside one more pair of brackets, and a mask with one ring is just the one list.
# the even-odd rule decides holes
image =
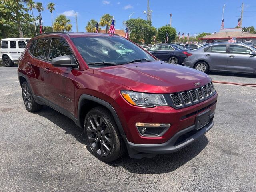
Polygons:
[[84,133],[87,146],[99,160],[112,162],[126,151],[112,114],[103,107],[93,108],[86,114]]

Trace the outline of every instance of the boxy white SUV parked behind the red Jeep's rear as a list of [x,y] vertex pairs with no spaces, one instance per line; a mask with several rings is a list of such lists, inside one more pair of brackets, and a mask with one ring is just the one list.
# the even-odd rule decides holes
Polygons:
[[4,62],[4,66],[12,67],[14,62],[18,62],[29,40],[30,38],[8,38],[1,40],[0,61]]

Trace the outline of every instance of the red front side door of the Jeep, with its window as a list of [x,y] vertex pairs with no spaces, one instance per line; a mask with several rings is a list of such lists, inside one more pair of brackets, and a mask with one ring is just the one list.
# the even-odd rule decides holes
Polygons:
[[[76,62],[68,44],[61,38],[52,38],[49,61],[59,56],[70,56]],[[66,116],[75,116],[74,86],[78,70],[67,67],[54,67],[51,63],[44,65],[44,82],[46,99],[50,106]]]

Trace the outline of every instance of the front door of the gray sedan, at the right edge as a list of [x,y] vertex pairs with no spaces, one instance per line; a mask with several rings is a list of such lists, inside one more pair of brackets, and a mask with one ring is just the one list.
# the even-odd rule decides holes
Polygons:
[[250,55],[252,50],[242,45],[229,45],[228,71],[254,73],[256,68],[256,56]]

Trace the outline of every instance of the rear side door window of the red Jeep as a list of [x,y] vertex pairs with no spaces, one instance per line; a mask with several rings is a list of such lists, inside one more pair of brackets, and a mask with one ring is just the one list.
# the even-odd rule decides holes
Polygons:
[[49,40],[39,39],[36,41],[33,55],[37,58],[47,60],[49,53]]

